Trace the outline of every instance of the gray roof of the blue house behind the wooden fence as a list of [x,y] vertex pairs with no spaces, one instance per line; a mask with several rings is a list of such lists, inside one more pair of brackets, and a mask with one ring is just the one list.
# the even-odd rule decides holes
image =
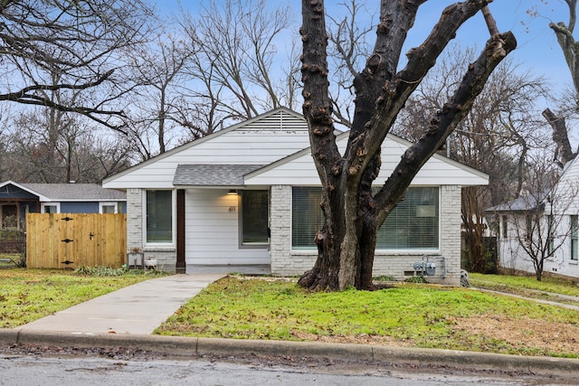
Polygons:
[[105,189],[99,184],[20,184],[30,193],[41,194],[52,201],[125,201],[127,194]]

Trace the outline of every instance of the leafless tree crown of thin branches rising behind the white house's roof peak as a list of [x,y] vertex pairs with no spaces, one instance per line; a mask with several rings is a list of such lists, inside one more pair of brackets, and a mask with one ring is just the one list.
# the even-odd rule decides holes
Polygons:
[[252,118],[264,109],[287,105],[280,100],[284,94],[278,85],[285,82],[277,79],[273,60],[289,15],[287,7],[264,0],[228,0],[212,1],[196,17],[185,16],[182,24],[195,47],[189,68],[193,97],[204,99],[204,105],[223,118]]

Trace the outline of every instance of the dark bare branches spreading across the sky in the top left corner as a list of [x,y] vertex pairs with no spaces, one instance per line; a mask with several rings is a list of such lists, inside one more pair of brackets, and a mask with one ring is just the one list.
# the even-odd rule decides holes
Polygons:
[[[146,39],[145,2],[19,0],[2,2],[0,11],[0,100],[79,113],[122,131],[115,100],[130,86],[119,69],[128,47]],[[86,98],[61,104],[47,97],[55,90]]]

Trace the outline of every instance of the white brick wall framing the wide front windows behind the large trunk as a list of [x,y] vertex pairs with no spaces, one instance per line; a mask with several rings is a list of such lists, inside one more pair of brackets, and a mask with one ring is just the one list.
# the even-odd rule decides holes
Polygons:
[[[432,283],[460,285],[460,186],[441,186],[441,250],[430,255],[436,263]],[[443,258],[442,258],[443,257]],[[314,266],[315,251],[291,251],[291,186],[271,187],[271,273],[280,276],[301,275]],[[374,276],[397,279],[413,273],[413,263],[421,254],[376,254]],[[406,274],[406,276],[405,276]]]

